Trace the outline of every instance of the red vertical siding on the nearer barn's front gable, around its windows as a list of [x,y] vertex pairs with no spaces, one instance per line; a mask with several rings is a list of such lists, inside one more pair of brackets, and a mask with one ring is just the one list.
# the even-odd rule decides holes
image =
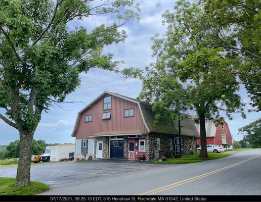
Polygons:
[[[103,111],[103,98],[105,96],[108,95],[104,95],[92,107],[82,112],[75,134],[76,139],[92,138],[89,136],[105,131],[141,130],[144,133],[148,132],[143,123],[138,104],[111,96],[111,110]],[[125,109],[134,109],[134,117],[124,118]],[[104,112],[111,112],[111,119],[102,120]],[[92,122],[84,123],[85,115],[93,115]]]

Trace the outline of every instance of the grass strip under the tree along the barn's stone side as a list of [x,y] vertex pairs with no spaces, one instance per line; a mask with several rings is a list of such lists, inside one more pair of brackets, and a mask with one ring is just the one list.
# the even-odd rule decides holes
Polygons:
[[201,162],[201,161],[207,161],[207,160],[212,160],[212,159],[219,159],[223,157],[228,157],[230,154],[214,154],[214,153],[208,153],[208,159],[201,159],[199,157],[200,154],[193,154],[193,155],[182,155],[180,158],[168,158],[167,161],[153,161],[154,163],[170,163],[170,164],[190,164],[190,163],[196,163],[196,162]]

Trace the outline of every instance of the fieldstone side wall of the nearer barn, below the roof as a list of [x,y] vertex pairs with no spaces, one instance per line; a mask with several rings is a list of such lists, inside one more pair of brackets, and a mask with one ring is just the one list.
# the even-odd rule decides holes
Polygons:
[[[163,135],[163,134],[148,134],[146,135],[146,161],[154,159],[154,152],[157,150],[157,138],[160,138],[160,150],[159,157],[166,155],[170,151],[169,139],[172,139],[173,149],[174,148],[174,136],[173,135]],[[193,137],[184,137],[184,149],[182,149],[182,154],[190,154],[191,149],[189,145],[189,140],[192,141],[192,150],[194,153],[197,152],[196,139],[193,140]]]

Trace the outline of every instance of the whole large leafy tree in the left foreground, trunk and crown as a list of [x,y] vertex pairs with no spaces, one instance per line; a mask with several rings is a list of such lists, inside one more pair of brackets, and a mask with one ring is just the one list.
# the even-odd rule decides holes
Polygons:
[[[0,118],[19,131],[15,186],[30,182],[32,140],[41,113],[75,90],[80,72],[119,71],[119,62],[104,55],[103,48],[124,41],[125,31],[117,28],[138,13],[134,0],[0,1],[0,107],[6,110]],[[112,21],[93,29],[77,26],[98,15],[110,15]]]

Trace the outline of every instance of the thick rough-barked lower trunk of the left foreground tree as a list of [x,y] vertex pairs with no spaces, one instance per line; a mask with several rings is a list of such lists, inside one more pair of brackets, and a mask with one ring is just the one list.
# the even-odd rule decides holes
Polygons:
[[30,184],[32,140],[32,132],[20,131],[20,150],[15,182],[16,187],[28,186]]

